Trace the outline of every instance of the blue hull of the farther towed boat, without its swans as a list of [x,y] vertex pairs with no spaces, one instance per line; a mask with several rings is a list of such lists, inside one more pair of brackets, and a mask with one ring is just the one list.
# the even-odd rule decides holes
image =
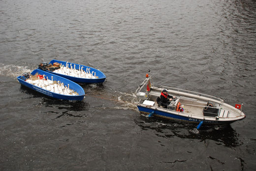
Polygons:
[[[61,61],[61,60],[51,60],[49,64],[52,64],[54,62],[58,62],[60,64],[63,64],[64,66],[66,66],[66,62],[65,61]],[[68,62],[70,64],[70,62]],[[77,63],[71,63],[72,66],[74,66],[74,64],[76,65],[75,66],[75,69],[78,70],[79,69],[79,64]],[[58,76],[61,76],[61,77],[64,77],[68,80],[71,80],[75,83],[103,83],[106,79],[106,76],[99,70],[95,69],[95,68],[92,68],[92,67],[89,67],[89,66],[85,66],[85,65],[80,65],[80,67],[84,67],[83,69],[86,69],[86,68],[90,68],[91,69],[91,72],[96,72],[96,76],[98,78],[96,79],[86,79],[86,78],[77,78],[77,77],[71,77],[71,76],[68,76],[68,75],[64,75],[64,74],[59,74],[59,73],[55,73],[55,72],[52,72],[52,71],[47,71],[46,72],[49,72],[49,73],[52,73],[52,74],[55,74],[55,75],[58,75]]]

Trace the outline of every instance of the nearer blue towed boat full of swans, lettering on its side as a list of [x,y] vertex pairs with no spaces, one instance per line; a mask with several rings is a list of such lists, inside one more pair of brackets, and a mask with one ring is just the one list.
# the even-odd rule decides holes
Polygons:
[[21,85],[56,99],[81,101],[85,96],[80,85],[40,69],[35,69],[31,74],[23,74],[17,79]]

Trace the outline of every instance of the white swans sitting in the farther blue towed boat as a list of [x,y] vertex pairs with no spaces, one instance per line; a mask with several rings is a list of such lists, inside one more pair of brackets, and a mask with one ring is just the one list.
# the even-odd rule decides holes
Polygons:
[[70,63],[70,68],[68,67],[68,62],[66,62],[66,66],[61,64],[59,69],[54,70],[53,72],[58,73],[58,74],[63,74],[63,75],[68,75],[71,77],[78,77],[78,78],[86,78],[86,79],[96,79],[98,78],[96,76],[96,72],[90,72],[91,68],[86,68],[86,71],[83,70],[83,66],[79,69],[75,69],[75,64],[72,67],[72,63]]

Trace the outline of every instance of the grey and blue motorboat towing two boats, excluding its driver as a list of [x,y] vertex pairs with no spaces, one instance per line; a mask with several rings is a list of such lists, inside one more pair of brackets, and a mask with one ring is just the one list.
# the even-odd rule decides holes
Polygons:
[[[169,95],[176,97],[165,107],[161,106],[158,98],[164,89]],[[170,86],[154,86],[149,74],[146,74],[146,79],[135,93],[138,110],[148,117],[197,123],[198,126],[229,124],[246,117],[242,112],[243,104],[236,104],[233,107],[224,103],[223,99],[211,95]]]

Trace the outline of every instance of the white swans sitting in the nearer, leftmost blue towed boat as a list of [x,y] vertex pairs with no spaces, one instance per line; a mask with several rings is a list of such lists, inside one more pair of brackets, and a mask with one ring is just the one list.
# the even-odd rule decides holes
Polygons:
[[48,77],[46,77],[45,79],[45,75],[36,76],[38,79],[32,79],[32,76],[30,76],[29,79],[26,80],[26,82],[38,86],[42,89],[54,92],[54,93],[58,93],[58,94],[64,94],[64,95],[79,95],[77,92],[75,92],[74,90],[69,88],[69,84],[66,86],[64,86],[64,83],[61,83],[60,81],[56,82],[53,81],[53,76],[52,76],[52,80],[48,79]]

